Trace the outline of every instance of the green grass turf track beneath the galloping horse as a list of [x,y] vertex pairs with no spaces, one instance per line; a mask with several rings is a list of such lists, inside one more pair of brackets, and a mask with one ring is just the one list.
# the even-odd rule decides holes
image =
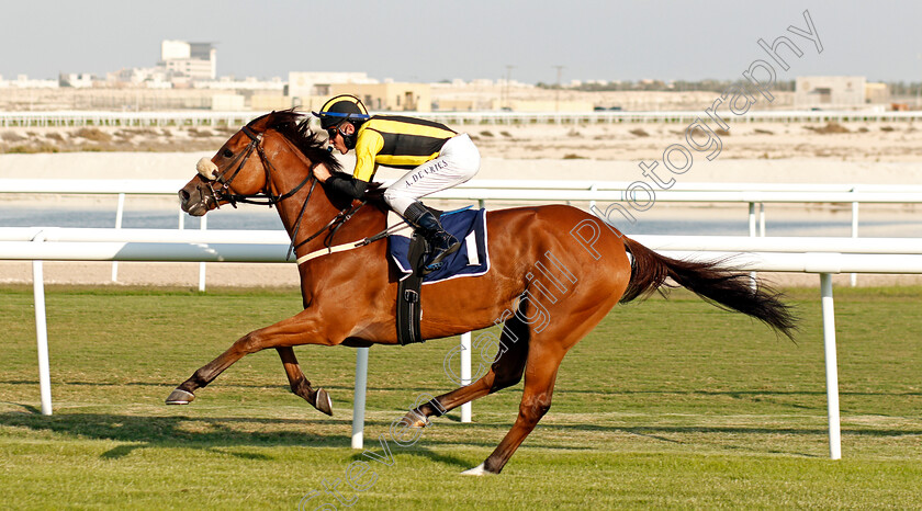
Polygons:
[[[835,289],[843,459],[828,459],[818,289],[791,289],[797,343],[687,293],[617,307],[564,359],[551,411],[499,476],[480,464],[521,384],[435,420],[408,447],[389,424],[452,388],[457,340],[370,352],[366,446],[349,447],[355,351],[295,350],[334,417],[288,391],[274,351],[167,407],[249,330],[299,310],[290,291],[50,287],[55,415],[37,413],[30,288],[0,288],[0,508],[295,509],[339,479],[355,509],[918,508],[922,288]],[[370,461],[363,491],[346,470]],[[373,481],[373,484],[370,484]],[[325,496],[324,502],[345,503]]]

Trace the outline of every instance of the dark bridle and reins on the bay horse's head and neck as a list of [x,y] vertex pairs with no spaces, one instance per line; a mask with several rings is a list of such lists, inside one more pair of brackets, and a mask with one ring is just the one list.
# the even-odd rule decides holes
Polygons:
[[[314,232],[313,235],[308,236],[306,239],[302,240],[301,242],[295,243],[297,239],[297,231],[301,228],[301,219],[304,218],[304,212],[307,209],[307,203],[311,202],[311,196],[314,194],[314,189],[317,185],[317,178],[314,175],[313,167],[307,172],[307,177],[304,178],[303,181],[297,183],[296,186],[291,189],[290,191],[282,193],[282,194],[274,194],[272,193],[271,189],[271,172],[278,173],[276,167],[269,161],[269,158],[266,156],[266,151],[262,149],[262,134],[255,133],[249,126],[244,126],[241,129],[244,134],[249,137],[250,141],[247,144],[246,150],[238,154],[236,158],[231,161],[231,164],[227,166],[227,169],[221,171],[215,175],[213,180],[206,180],[209,184],[209,189],[212,193],[212,200],[215,202],[215,209],[220,208],[220,204],[222,201],[226,201],[232,206],[237,207],[237,203],[244,204],[257,204],[262,206],[277,206],[279,203],[293,196],[297,193],[305,184],[308,182],[311,183],[311,188],[307,191],[307,197],[304,198],[304,203],[301,205],[301,212],[297,214],[297,220],[294,223],[294,228],[292,229],[291,234],[291,245],[289,246],[288,254],[285,256],[285,260],[291,258],[291,254],[303,245],[307,243],[308,241],[315,239],[316,237],[321,236],[324,231],[329,230],[329,234],[324,239],[324,246],[329,248],[333,243],[333,237],[336,235],[336,231],[339,230],[339,227],[346,223],[352,215],[359,211],[364,204],[366,201],[362,201],[356,206],[349,206],[339,212],[331,220],[329,220],[325,226],[321,227],[319,230]],[[250,156],[252,156],[254,150],[259,156],[259,162],[262,164],[262,170],[266,172],[266,185],[259,192],[254,194],[241,194],[236,193],[234,189],[231,188],[231,183],[237,175],[240,173],[240,170],[247,164],[247,160],[249,160]],[[238,163],[239,162],[239,163]],[[236,169],[234,166],[236,164]],[[227,178],[226,174],[234,169],[231,173],[231,177]],[[220,183],[221,186],[215,189],[214,184]]]

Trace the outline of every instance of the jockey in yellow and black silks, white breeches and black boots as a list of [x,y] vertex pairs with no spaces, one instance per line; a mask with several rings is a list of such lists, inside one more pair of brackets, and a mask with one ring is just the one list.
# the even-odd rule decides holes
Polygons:
[[356,150],[352,177],[330,173],[323,163],[314,167],[321,182],[353,198],[362,198],[378,166],[409,169],[387,186],[384,201],[428,241],[431,253],[427,271],[461,243],[446,232],[439,219],[419,202],[420,197],[450,189],[473,178],[480,170],[480,152],[466,134],[414,117],[368,114],[364,104],[350,94],[328,100],[319,112],[321,127],[329,134],[330,150],[345,155]]

